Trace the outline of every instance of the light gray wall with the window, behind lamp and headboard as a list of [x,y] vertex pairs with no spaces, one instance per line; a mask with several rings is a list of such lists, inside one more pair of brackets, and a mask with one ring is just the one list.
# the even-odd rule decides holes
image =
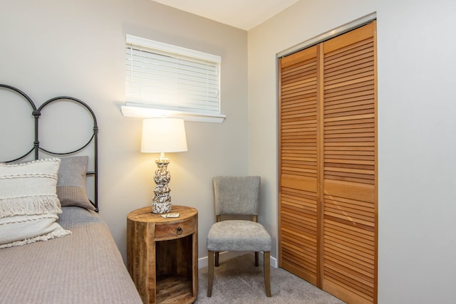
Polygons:
[[207,256],[204,236],[215,219],[212,177],[248,169],[247,32],[150,0],[4,1],[0,28],[0,83],[24,90],[38,104],[74,96],[98,116],[100,214],[124,257],[126,216],[150,206],[158,156],[140,153],[142,120],[120,112],[125,34],[222,56],[227,119],[186,122],[188,152],[167,154],[172,203],[198,209],[199,257]]

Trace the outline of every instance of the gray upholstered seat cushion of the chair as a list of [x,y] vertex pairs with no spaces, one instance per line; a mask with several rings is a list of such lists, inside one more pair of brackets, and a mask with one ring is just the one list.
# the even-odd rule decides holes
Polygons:
[[212,225],[207,234],[209,251],[271,251],[271,236],[254,221],[227,220]]

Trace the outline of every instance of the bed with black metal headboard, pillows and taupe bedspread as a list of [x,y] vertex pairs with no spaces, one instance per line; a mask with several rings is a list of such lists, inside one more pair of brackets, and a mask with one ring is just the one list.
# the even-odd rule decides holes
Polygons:
[[[37,108],[10,85],[0,85],[0,100],[1,130],[7,134],[0,137],[0,156],[9,157],[8,150],[16,153],[24,139],[31,141],[23,145],[31,146],[24,153],[0,159],[0,303],[142,303],[98,214],[98,125],[93,111],[68,96]],[[52,146],[41,133],[49,130],[43,121],[71,120],[62,118],[63,108],[55,112],[58,115],[48,110],[61,103],[71,104],[69,117],[88,113],[76,122],[90,122],[91,134],[81,147],[51,151],[42,145]],[[5,127],[18,123],[21,127]],[[24,125],[31,130],[24,131]],[[64,137],[78,137],[64,129]]]

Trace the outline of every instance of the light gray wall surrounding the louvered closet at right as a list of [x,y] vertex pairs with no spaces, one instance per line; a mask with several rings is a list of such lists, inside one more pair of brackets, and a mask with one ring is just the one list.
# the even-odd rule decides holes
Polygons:
[[456,303],[455,1],[301,0],[249,31],[249,172],[268,185],[261,221],[276,236],[276,53],[374,11],[378,303]]

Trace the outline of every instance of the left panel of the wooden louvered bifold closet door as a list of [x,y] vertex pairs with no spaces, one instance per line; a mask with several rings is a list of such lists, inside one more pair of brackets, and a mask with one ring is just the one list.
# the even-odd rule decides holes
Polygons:
[[281,267],[317,284],[317,46],[280,61]]

